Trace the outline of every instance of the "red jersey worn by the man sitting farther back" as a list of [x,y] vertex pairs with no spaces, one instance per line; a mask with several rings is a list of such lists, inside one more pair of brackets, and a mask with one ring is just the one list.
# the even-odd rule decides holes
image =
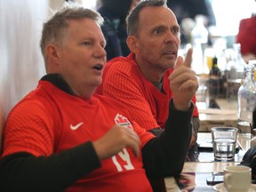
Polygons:
[[[169,100],[172,98],[168,79],[172,70],[165,72],[164,92],[159,92],[154,84],[142,76],[134,60],[134,54],[131,53],[128,57],[118,57],[108,61],[103,73],[103,83],[96,92],[116,98],[127,105],[132,118],[141,127],[147,130],[159,126],[164,128],[169,113]],[[198,116],[196,96],[193,102],[195,103],[193,116]]]

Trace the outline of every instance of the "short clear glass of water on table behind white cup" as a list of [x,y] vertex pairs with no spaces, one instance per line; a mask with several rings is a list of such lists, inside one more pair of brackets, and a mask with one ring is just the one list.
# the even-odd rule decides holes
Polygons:
[[238,129],[236,127],[212,127],[211,131],[214,160],[234,161]]

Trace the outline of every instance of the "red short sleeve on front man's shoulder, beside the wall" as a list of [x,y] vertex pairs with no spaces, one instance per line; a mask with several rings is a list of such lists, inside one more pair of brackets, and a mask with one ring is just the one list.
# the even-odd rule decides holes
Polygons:
[[[34,156],[50,156],[53,152],[52,118],[36,100],[22,101],[13,108],[4,128],[3,156],[28,152]],[[26,141],[25,141],[26,140]]]

